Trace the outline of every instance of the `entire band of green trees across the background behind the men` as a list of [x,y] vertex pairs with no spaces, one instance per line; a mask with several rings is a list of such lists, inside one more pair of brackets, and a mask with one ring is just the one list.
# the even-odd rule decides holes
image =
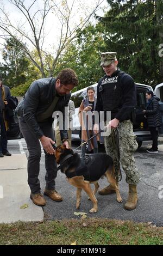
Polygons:
[[[163,58],[159,57],[159,45],[163,43],[162,0],[107,0],[109,6],[104,17],[96,16],[99,22],[91,23],[79,32],[61,53],[54,77],[64,68],[72,68],[79,78],[82,89],[98,82],[104,75],[99,66],[100,53],[117,52],[118,66],[133,76],[135,82],[155,86],[163,80]],[[3,52],[0,72],[3,82],[13,95],[24,95],[30,84],[41,78],[41,72],[20,51],[20,42],[9,38]],[[30,53],[39,63],[36,51]],[[54,58],[42,54],[45,75],[51,73]]]

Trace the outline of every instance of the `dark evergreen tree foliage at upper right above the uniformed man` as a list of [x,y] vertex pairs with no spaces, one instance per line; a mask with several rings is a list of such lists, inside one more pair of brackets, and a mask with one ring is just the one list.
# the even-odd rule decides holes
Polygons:
[[[117,52],[119,66],[136,82],[162,82],[159,44],[162,31],[162,0],[107,1],[105,17],[97,17],[105,28],[107,51]],[[157,8],[156,4],[159,4]],[[158,22],[159,20],[159,22]]]

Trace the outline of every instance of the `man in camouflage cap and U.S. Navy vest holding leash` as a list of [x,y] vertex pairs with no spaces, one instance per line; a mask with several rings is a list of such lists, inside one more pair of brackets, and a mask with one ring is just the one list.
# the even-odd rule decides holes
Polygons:
[[[124,208],[133,210],[137,205],[137,183],[139,173],[134,160],[134,151],[137,149],[136,136],[133,132],[133,111],[136,105],[136,87],[133,78],[117,68],[116,52],[101,53],[101,66],[105,76],[97,85],[96,111],[111,112],[111,120],[105,125],[110,129],[109,136],[104,136],[105,150],[113,159],[118,181],[120,172],[119,158],[126,173],[126,182],[129,185],[129,194]],[[119,145],[114,129],[118,132]],[[99,130],[98,124],[94,126],[95,132]],[[120,149],[120,157],[118,149]],[[118,185],[118,182],[117,182]],[[111,194],[115,190],[111,185],[99,191],[99,194]]]

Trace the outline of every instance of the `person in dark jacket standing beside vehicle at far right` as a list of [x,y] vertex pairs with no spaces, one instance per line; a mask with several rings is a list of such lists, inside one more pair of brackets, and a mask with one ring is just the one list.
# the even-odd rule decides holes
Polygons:
[[152,90],[146,93],[146,99],[148,99],[147,107],[143,110],[147,123],[152,136],[152,148],[148,149],[148,153],[158,153],[158,127],[162,125],[161,113],[159,107],[160,99],[155,97]]

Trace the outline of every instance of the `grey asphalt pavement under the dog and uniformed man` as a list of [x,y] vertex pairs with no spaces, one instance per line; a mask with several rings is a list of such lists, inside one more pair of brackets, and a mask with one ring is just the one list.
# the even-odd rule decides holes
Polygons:
[[[73,142],[73,148],[76,148],[79,142]],[[85,192],[82,193],[82,203],[80,210],[76,210],[76,188],[72,187],[65,179],[65,175],[58,172],[56,179],[56,190],[62,195],[62,202],[54,202],[46,197],[47,204],[43,207],[45,218],[47,220],[60,220],[62,218],[79,218],[74,215],[75,211],[87,212],[90,217],[114,218],[120,220],[133,220],[136,222],[152,222],[153,225],[163,226],[163,151],[152,155],[146,152],[148,142],[143,143],[142,147],[135,153],[137,168],[141,174],[141,181],[137,186],[139,202],[137,208],[133,211],[123,209],[128,196],[128,184],[125,181],[125,173],[122,172],[122,181],[120,182],[120,192],[123,203],[117,203],[116,194],[100,196],[98,199],[98,212],[90,214],[92,203],[87,199]],[[27,152],[24,141],[9,141],[8,149],[11,153]],[[23,152],[22,152],[23,153]],[[80,153],[80,150],[79,150]],[[45,187],[45,155],[41,156],[40,175],[41,190]],[[99,180],[100,187],[107,186],[106,179]]]

